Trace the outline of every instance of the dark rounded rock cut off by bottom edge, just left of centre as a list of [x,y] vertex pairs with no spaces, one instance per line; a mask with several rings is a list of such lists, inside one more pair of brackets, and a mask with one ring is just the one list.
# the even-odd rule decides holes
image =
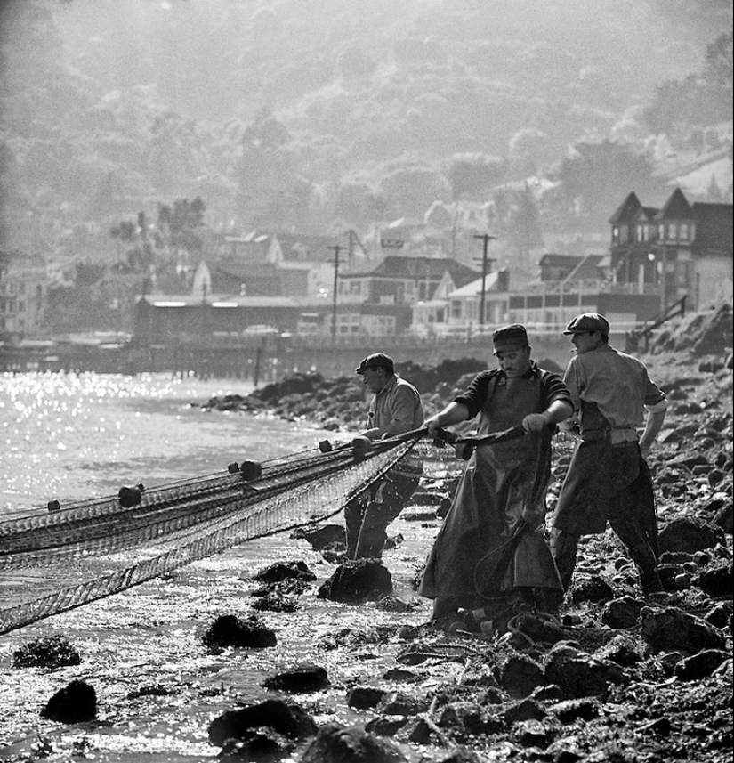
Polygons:
[[327,723],[303,751],[301,763],[405,763],[399,748],[364,726]]

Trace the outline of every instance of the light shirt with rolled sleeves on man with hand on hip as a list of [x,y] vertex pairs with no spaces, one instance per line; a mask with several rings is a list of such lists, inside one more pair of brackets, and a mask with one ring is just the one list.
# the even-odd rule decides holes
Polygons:
[[563,381],[574,410],[580,410],[582,402],[596,403],[609,426],[620,433],[613,440],[636,440],[645,408],[665,405],[665,393],[650,380],[645,364],[610,345],[571,358]]

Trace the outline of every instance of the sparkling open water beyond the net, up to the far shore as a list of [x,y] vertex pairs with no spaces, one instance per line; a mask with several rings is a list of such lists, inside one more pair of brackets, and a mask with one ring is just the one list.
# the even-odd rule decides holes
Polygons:
[[0,375],[0,518],[313,448],[323,433],[275,418],[206,412],[251,383],[169,374]]

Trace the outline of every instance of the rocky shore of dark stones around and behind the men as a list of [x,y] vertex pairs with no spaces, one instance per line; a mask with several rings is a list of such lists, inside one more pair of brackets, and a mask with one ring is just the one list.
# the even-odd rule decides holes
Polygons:
[[[407,759],[401,757],[405,745],[426,744],[442,746],[445,753],[420,759],[445,763],[730,760],[730,348],[731,311],[724,306],[665,332],[643,357],[670,401],[649,458],[664,595],[645,600],[633,564],[610,532],[589,537],[560,619],[528,613],[509,628],[484,633],[468,632],[460,623],[448,632],[399,629],[393,637],[405,646],[397,662],[410,666],[392,671],[400,677],[399,688],[353,688],[347,702],[366,712],[366,725],[329,724],[318,733],[312,728],[306,736],[316,736],[305,742],[299,760],[397,761]],[[470,359],[432,369],[404,364],[398,371],[419,388],[430,413],[482,367]],[[313,374],[208,405],[353,431],[364,400],[358,380]],[[557,449],[550,506],[569,459],[569,450]],[[415,497],[423,508],[408,514],[424,516],[432,503],[440,514],[447,487],[450,492],[447,483],[425,486]],[[333,554],[334,543],[327,548]],[[379,576],[365,588],[376,596]],[[399,606],[387,593],[378,606]],[[437,684],[431,669],[440,662],[454,662],[456,670]],[[242,740],[248,727],[244,715],[233,712],[217,726],[222,743],[228,734]],[[225,759],[241,759],[237,751],[247,744],[230,743]]]

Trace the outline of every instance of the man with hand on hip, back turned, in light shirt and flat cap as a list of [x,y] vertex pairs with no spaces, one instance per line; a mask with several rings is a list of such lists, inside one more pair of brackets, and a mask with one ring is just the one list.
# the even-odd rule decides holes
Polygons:
[[571,337],[576,355],[564,375],[574,414],[561,426],[581,438],[551,528],[563,586],[571,582],[580,536],[604,532],[609,520],[637,565],[644,593],[661,591],[655,495],[645,456],[663,426],[665,394],[641,361],[609,345],[603,315],[578,315],[563,333]]

